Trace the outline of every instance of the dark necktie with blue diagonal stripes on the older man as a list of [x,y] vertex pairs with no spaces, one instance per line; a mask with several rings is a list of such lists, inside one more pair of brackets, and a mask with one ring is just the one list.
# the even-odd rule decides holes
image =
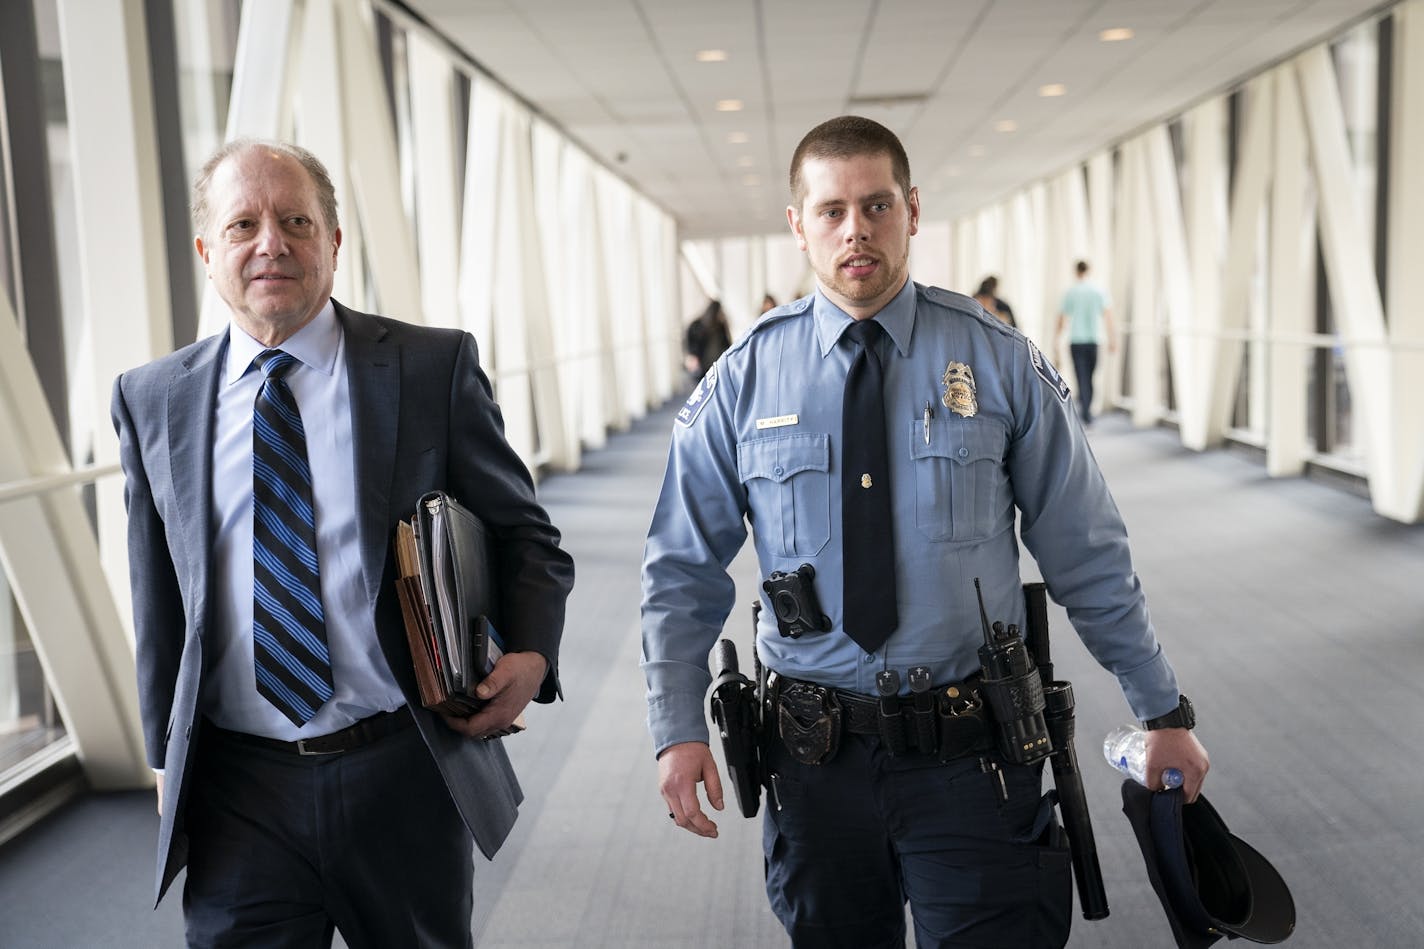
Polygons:
[[258,355],[252,409],[252,651],[258,691],[305,725],[332,697],[306,430],[282,376],[296,359]]

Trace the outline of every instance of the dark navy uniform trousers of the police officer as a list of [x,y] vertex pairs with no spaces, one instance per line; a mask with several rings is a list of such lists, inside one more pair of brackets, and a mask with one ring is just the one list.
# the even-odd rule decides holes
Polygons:
[[[847,734],[803,765],[773,740],[762,842],[772,911],[797,949],[1041,949],[1068,940],[1072,873],[1042,795],[1042,764],[893,758]],[[1048,834],[1045,834],[1048,832]]]

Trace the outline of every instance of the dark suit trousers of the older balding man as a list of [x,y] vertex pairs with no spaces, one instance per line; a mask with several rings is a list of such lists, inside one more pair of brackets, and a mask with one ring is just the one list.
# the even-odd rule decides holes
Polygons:
[[473,842],[419,730],[300,757],[205,724],[189,779],[191,946],[473,945]]

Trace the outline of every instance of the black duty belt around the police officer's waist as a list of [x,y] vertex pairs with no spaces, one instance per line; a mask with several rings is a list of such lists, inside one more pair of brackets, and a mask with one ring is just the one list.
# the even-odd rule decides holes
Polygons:
[[948,761],[994,748],[988,715],[973,681],[876,698],[779,675],[773,695],[782,740],[792,751],[802,737],[797,725],[827,717],[839,731],[879,735],[891,755],[914,752]]

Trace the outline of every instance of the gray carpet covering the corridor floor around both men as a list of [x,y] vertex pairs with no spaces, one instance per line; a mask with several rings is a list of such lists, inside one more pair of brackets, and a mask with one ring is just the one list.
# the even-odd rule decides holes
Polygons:
[[[759,825],[674,828],[655,788],[638,660],[638,561],[671,412],[592,453],[541,496],[578,561],[567,701],[508,742],[528,794],[510,844],[477,871],[486,949],[782,946],[760,888]],[[1212,754],[1208,797],[1290,883],[1289,945],[1424,945],[1424,527],[1350,493],[1267,480],[1237,452],[1195,455],[1168,432],[1101,420],[1094,449],[1128,522],[1165,648]],[[1032,564],[1025,564],[1031,574]],[[755,564],[733,573],[750,604]],[[1059,675],[1078,697],[1078,754],[1112,915],[1075,921],[1075,949],[1171,948],[1098,742],[1128,711],[1061,611]],[[731,634],[748,641],[739,606]],[[732,805],[735,808],[735,804]],[[150,911],[150,794],[90,795],[0,848],[0,946],[181,945],[178,901]],[[1237,943],[1239,945],[1239,943]]]

